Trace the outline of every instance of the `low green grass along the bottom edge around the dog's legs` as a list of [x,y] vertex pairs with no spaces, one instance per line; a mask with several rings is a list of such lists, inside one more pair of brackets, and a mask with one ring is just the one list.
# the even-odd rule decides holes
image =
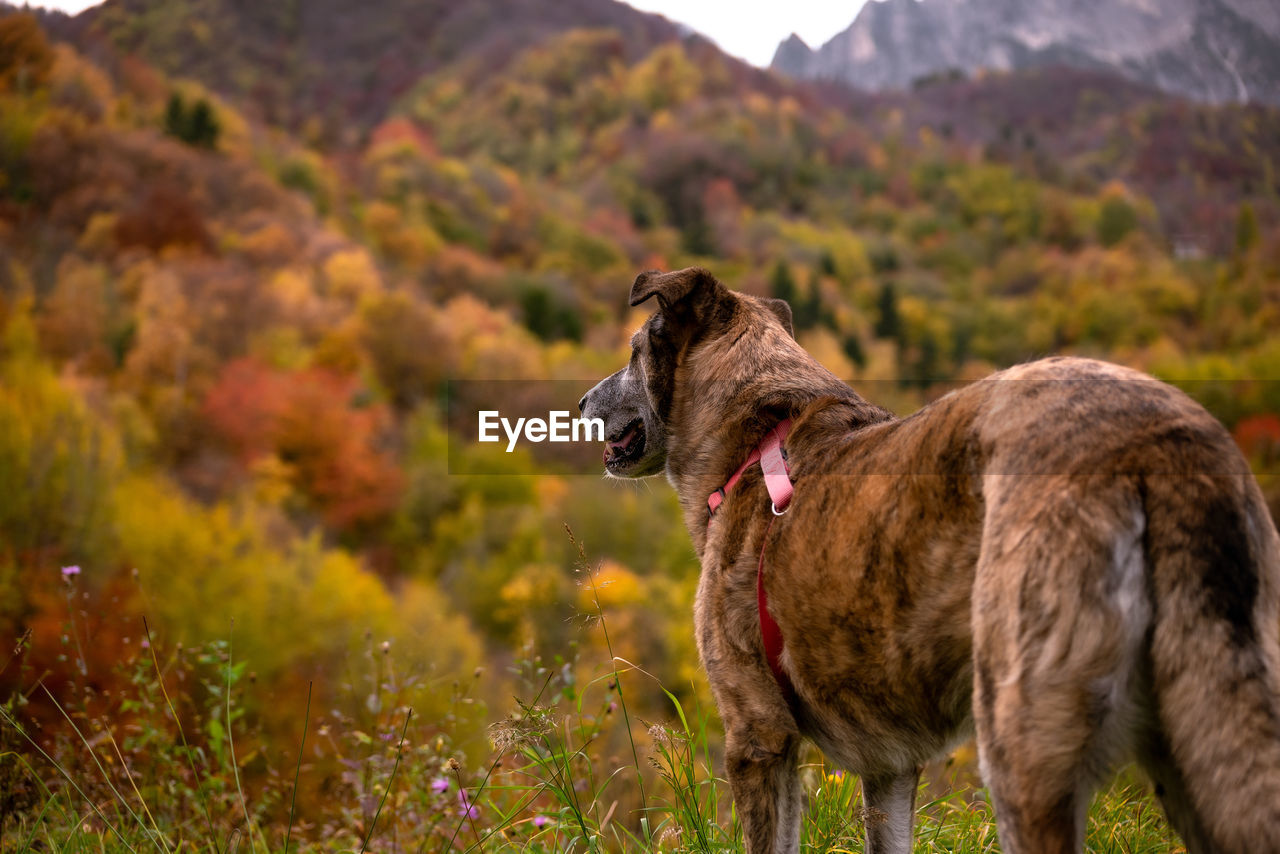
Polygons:
[[[573,699],[561,695],[554,705],[520,707],[495,725],[494,754],[476,768],[448,759],[436,764],[438,754],[424,762],[424,753],[413,749],[385,754],[394,757],[392,766],[367,789],[378,799],[371,818],[362,821],[360,809],[348,809],[349,821],[339,821],[324,836],[314,827],[311,832],[300,830],[292,816],[287,825],[273,825],[216,773],[204,781],[212,802],[212,818],[206,823],[189,793],[165,803],[151,785],[159,781],[125,787],[119,780],[128,775],[116,769],[115,785],[104,791],[91,776],[77,780],[77,773],[68,771],[59,775],[60,784],[37,784],[40,796],[6,821],[0,850],[266,853],[287,850],[291,839],[292,851],[742,850],[727,784],[716,773],[708,714],[687,716],[673,700],[672,720],[652,723],[641,734],[637,750],[643,768],[611,766],[593,750],[604,739],[608,721],[617,720],[604,713],[607,704],[600,707],[604,698],[617,697],[608,689],[611,681],[603,676]],[[547,680],[548,691],[556,690],[554,682]],[[581,703],[594,693],[590,689],[599,689],[591,713]],[[6,721],[12,726],[12,718]],[[410,723],[406,718],[396,735],[407,737]],[[88,743],[81,749],[105,758],[105,752]],[[4,761],[17,762],[27,778],[49,777],[47,767],[38,768],[20,753],[8,753]],[[50,767],[56,762],[51,755],[41,761]],[[943,769],[925,775],[916,851],[1000,850],[984,791],[964,782],[970,773],[960,767],[941,782],[938,777],[947,776]],[[641,775],[650,780],[650,798],[643,809],[636,786]],[[801,775],[808,802],[803,850],[861,851],[864,813],[858,778],[831,772],[817,754],[804,763]],[[447,789],[436,791],[442,781]],[[143,800],[143,789],[152,803]],[[458,791],[467,793],[465,800],[458,799]],[[415,804],[422,808],[415,809]],[[335,807],[329,804],[328,810],[343,812]],[[1137,854],[1178,849],[1146,784],[1132,775],[1121,773],[1094,799],[1087,850]]]

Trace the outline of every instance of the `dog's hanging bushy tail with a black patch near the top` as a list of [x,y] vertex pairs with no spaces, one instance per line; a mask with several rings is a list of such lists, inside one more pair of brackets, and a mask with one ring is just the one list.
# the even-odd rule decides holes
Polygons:
[[1280,851],[1280,538],[1248,474],[1144,487],[1144,764],[1193,854]]

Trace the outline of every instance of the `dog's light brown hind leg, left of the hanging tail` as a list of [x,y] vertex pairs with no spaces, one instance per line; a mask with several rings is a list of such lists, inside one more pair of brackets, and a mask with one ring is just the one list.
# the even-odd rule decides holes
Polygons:
[[1144,519],[1128,481],[1010,478],[988,483],[986,528],[972,611],[974,722],[1001,849],[1076,854],[1093,787],[1140,717]]

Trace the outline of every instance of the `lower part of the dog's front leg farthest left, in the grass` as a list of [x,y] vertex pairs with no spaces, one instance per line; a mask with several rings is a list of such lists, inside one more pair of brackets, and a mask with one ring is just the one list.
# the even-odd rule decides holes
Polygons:
[[800,737],[763,726],[731,726],[724,761],[746,854],[800,850]]

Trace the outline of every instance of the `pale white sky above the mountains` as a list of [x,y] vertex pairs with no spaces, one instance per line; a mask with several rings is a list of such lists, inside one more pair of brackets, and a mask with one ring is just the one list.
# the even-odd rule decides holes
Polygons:
[[[31,0],[32,5],[76,14],[99,0]],[[271,0],[266,0],[270,3]],[[778,42],[792,32],[818,47],[854,23],[865,0],[628,0],[636,9],[657,12],[689,24],[721,49],[753,65],[765,67]]]

